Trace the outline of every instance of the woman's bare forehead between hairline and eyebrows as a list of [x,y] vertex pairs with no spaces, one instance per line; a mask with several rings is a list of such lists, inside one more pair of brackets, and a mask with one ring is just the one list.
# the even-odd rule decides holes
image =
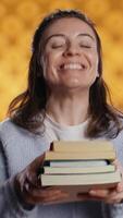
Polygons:
[[76,36],[78,34],[89,34],[96,39],[93,28],[77,17],[62,17],[54,21],[45,31],[44,37],[47,38],[53,34],[64,34],[66,36]]

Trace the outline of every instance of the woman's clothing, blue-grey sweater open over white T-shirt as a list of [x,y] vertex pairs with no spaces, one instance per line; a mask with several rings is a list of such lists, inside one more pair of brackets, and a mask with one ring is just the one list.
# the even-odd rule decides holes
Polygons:
[[[106,205],[102,202],[85,201],[36,205],[32,210],[26,210],[19,203],[13,186],[14,175],[46,152],[53,140],[87,140],[84,137],[86,124],[85,122],[75,126],[60,126],[46,118],[44,135],[35,135],[10,120],[0,124],[1,218],[123,218],[123,204]],[[123,165],[123,132],[112,140],[112,143]]]

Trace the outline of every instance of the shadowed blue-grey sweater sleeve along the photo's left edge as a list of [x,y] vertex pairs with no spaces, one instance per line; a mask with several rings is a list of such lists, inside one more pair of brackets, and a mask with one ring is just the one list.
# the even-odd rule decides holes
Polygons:
[[16,196],[14,190],[14,177],[9,178],[8,162],[2,142],[0,142],[0,217],[25,218],[30,217],[30,214],[33,216],[33,210],[35,210],[35,208],[32,210],[25,209]]

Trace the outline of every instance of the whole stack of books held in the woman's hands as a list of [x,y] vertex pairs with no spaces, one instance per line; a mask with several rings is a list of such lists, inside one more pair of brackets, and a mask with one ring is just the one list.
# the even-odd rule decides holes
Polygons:
[[112,161],[115,150],[109,141],[53,142],[41,169],[42,186],[59,186],[77,201],[77,193],[114,187],[121,174]]

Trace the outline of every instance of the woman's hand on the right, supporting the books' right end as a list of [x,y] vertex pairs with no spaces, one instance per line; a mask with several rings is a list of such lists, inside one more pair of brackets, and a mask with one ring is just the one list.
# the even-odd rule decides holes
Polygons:
[[118,204],[123,202],[123,167],[121,164],[115,160],[113,162],[122,174],[122,181],[118,183],[114,189],[109,190],[91,190],[89,195],[91,198],[103,201],[104,203],[109,204]]

